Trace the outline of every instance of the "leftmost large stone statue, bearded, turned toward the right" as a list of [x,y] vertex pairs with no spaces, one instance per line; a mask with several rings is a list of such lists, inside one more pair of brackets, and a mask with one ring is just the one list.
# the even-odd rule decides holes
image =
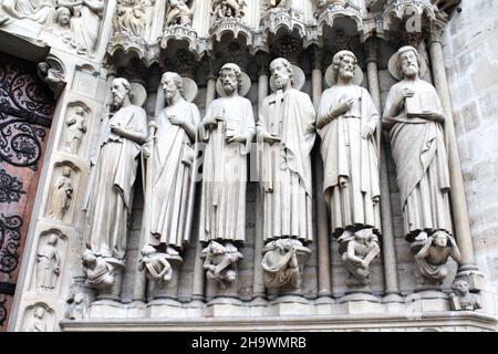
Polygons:
[[116,112],[104,123],[89,181],[85,243],[96,256],[123,260],[147,117],[132,103],[132,85],[126,79],[114,79],[111,92]]

